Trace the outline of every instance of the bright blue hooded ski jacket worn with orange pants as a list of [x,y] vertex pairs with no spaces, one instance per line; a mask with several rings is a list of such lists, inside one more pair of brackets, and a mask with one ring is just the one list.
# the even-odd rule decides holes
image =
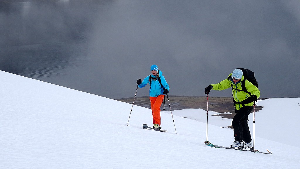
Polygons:
[[[160,71],[160,70],[158,70],[158,72],[159,72],[159,77],[161,78],[161,84],[163,85],[163,87],[165,89],[168,89],[168,91],[170,91],[169,84],[167,83],[165,77],[163,76],[163,72]],[[151,76],[153,78],[155,78],[155,76],[153,76],[152,74],[151,74]],[[149,76],[144,78],[142,83],[139,85],[139,88],[143,88],[144,86],[147,85],[147,83],[150,84]],[[164,89],[161,86],[161,84],[159,83],[158,79],[157,80],[153,80],[153,79],[151,80],[150,90],[149,90],[150,97],[158,97],[159,95],[163,94]]]

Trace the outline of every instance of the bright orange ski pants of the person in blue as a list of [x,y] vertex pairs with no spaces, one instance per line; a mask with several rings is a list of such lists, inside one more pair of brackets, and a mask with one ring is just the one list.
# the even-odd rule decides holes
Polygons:
[[163,103],[164,97],[164,94],[158,97],[150,97],[153,124],[161,125],[161,103]]

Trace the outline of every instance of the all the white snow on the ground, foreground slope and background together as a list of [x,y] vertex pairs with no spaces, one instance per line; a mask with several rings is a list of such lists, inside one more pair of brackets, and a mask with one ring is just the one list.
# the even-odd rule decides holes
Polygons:
[[[296,143],[299,134],[286,133],[300,127],[294,122],[299,116],[299,98],[257,103],[264,108],[255,114],[254,147],[273,153],[261,154],[206,146],[206,136],[208,141],[220,146],[229,146],[234,140],[232,129],[219,126],[222,124],[217,121],[221,117],[213,118],[216,112],[208,112],[208,135],[205,120],[175,115],[181,110],[174,111],[174,122],[170,112],[161,112],[161,126],[167,132],[145,130],[142,124],[150,126],[152,123],[151,109],[134,105],[130,115],[132,105],[129,103],[3,71],[0,75],[3,79],[0,81],[2,168],[300,167],[300,147],[288,145]],[[286,101],[291,105],[274,111],[274,107]],[[187,116],[195,114],[194,109],[182,111]],[[197,111],[206,119],[205,110]],[[282,111],[288,111],[289,115],[278,118],[283,117]],[[282,120],[278,122],[279,119]],[[270,132],[260,135],[265,128],[271,128]],[[250,131],[253,137],[251,127]],[[282,138],[286,138],[283,143]]]

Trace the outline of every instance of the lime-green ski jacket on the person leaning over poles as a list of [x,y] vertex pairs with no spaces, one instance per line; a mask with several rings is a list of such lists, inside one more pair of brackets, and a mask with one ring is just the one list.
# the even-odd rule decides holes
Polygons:
[[[221,90],[225,90],[228,88],[231,88],[231,84],[233,84],[233,88],[242,90],[242,85],[241,85],[241,81],[244,80],[244,76],[242,76],[241,80],[238,81],[237,84],[234,84],[232,79],[231,79],[231,75],[232,73],[228,76],[227,79],[220,81],[220,83],[217,84],[211,84],[211,86],[213,87],[213,90],[217,90],[217,91],[221,91]],[[250,92],[251,94],[245,93],[244,91],[237,91],[232,89],[232,96],[233,99],[236,102],[241,102],[245,99],[247,99],[248,97],[250,97],[252,94],[254,94],[257,98],[259,98],[260,96],[260,91],[258,90],[258,88],[256,88],[256,86],[254,86],[250,81],[248,81],[247,79],[245,80],[245,87],[247,89],[248,92]],[[244,104],[245,106],[253,106],[253,102],[251,103],[247,103]],[[235,109],[239,110],[241,109],[243,106],[242,104],[235,104]]]

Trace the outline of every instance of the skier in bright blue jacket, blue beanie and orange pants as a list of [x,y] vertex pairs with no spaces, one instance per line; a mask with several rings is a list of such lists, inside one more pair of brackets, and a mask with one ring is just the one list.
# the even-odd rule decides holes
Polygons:
[[169,93],[169,84],[163,76],[163,72],[158,70],[158,66],[152,65],[150,67],[151,75],[137,80],[140,88],[143,88],[148,83],[150,84],[150,102],[153,116],[153,128],[161,129],[161,103],[164,100],[164,94]]

